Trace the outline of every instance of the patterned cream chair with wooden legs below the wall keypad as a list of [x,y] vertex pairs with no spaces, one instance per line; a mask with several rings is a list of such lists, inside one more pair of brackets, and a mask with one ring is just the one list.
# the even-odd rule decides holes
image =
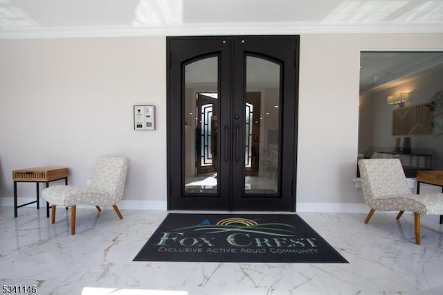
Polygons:
[[71,235],[75,234],[75,209],[77,205],[93,205],[98,211],[100,206],[111,205],[118,217],[123,219],[117,202],[125,190],[129,159],[122,157],[100,157],[94,168],[88,188],[75,186],[51,186],[42,191],[42,197],[51,207],[51,223],[55,223],[56,206],[71,207]]

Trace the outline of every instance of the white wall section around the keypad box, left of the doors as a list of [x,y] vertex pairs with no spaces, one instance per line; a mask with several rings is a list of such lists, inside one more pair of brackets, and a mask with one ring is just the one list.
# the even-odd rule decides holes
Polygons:
[[[165,202],[165,50],[164,37],[1,40],[0,206],[12,204],[12,170],[68,166],[86,186],[105,154],[130,159],[125,199]],[[156,105],[155,131],[134,131],[138,103]]]

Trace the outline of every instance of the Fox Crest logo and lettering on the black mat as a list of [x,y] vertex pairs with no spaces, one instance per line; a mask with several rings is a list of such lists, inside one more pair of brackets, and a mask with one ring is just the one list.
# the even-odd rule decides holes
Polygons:
[[168,253],[298,254],[316,253],[318,247],[316,238],[298,236],[291,222],[211,216],[194,219],[190,224],[194,225],[162,231],[153,244],[159,252]]

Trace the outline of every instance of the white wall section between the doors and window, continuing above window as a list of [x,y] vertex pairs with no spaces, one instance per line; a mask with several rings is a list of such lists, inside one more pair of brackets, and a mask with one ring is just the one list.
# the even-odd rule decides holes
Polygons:
[[441,50],[442,34],[300,36],[298,211],[360,211],[356,175],[360,51]]

